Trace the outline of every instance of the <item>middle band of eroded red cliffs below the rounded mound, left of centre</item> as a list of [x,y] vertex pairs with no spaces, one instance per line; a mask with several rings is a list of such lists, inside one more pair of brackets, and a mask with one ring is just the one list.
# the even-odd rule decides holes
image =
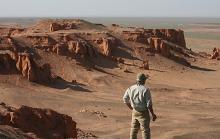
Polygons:
[[[58,55],[65,56],[83,56],[95,58],[98,54],[106,57],[111,57],[113,48],[117,47],[118,42],[114,37],[108,34],[84,34],[86,37],[92,38],[85,39],[79,35],[32,35],[27,36],[27,40],[34,46],[34,48],[42,49],[45,52],[53,52]],[[106,37],[96,37],[106,36]],[[95,45],[94,45],[95,44]]]

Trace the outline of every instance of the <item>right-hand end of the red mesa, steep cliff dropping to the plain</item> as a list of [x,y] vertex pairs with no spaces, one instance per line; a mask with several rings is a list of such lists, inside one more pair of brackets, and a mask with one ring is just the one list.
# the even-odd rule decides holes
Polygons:
[[[187,61],[190,50],[186,47],[184,32],[176,29],[144,29],[144,28],[121,28],[114,26],[113,31],[120,34],[126,41],[134,43],[134,50],[139,50],[138,55],[146,59],[143,51],[151,54],[160,54],[177,63],[190,66]],[[138,47],[137,47],[138,46]],[[142,47],[142,48],[140,48]]]

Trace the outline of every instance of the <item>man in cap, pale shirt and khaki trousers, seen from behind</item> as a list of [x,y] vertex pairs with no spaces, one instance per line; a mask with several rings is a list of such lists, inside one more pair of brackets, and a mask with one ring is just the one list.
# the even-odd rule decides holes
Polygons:
[[142,138],[150,139],[150,115],[153,121],[157,119],[154,114],[151,93],[145,82],[148,77],[140,73],[137,75],[137,83],[129,87],[123,97],[124,103],[132,110],[132,122],[130,139],[137,139],[138,130],[141,128]]

